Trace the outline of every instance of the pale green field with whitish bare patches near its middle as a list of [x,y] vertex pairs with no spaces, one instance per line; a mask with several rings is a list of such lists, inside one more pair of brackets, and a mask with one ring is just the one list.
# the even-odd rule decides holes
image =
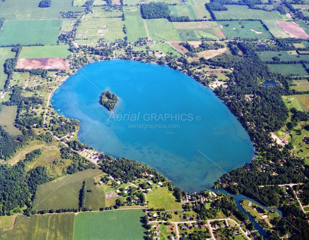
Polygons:
[[121,18],[85,18],[77,27],[76,42],[96,44],[100,39],[114,41],[125,37]]

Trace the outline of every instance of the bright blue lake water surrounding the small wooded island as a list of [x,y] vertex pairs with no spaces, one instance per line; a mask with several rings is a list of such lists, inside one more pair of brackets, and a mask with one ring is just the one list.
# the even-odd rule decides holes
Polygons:
[[[98,103],[106,90],[119,99],[112,113]],[[211,187],[253,156],[247,132],[220,99],[165,66],[89,64],[55,91],[52,104],[80,120],[83,143],[146,163],[190,192]]]

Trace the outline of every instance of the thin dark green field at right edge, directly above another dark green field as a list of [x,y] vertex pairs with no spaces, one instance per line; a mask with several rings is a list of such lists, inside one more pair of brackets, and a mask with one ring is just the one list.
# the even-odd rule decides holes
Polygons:
[[264,51],[256,52],[262,61],[273,61],[273,57],[280,58],[281,61],[308,61],[309,55],[298,55],[295,51]]

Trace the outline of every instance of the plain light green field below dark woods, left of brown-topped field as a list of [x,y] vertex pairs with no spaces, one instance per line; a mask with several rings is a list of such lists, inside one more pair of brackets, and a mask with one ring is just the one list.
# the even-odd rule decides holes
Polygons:
[[175,24],[167,19],[146,19],[146,23],[153,41],[181,41]]

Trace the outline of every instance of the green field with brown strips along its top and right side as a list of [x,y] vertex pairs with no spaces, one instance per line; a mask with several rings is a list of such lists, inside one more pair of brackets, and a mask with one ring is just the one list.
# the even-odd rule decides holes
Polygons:
[[200,41],[202,37],[214,40],[225,38],[216,22],[174,23],[181,41]]

